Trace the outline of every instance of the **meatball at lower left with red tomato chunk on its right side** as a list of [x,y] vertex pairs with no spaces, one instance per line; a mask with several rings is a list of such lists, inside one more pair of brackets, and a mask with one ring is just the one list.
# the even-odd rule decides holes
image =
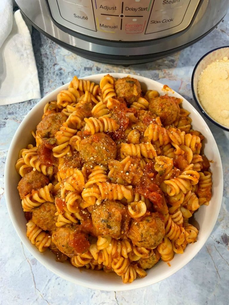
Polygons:
[[53,234],[53,242],[60,250],[68,257],[78,255],[78,253],[85,252],[90,243],[87,240],[87,235],[79,232],[77,229],[59,228]]

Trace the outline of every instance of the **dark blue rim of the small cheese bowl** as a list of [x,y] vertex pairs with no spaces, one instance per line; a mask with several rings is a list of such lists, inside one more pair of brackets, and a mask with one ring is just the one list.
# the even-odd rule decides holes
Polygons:
[[212,117],[209,116],[209,114],[204,110],[204,108],[202,107],[201,103],[199,102],[199,99],[198,97],[196,96],[195,94],[195,90],[194,90],[194,76],[195,76],[195,72],[196,72],[196,69],[198,67],[198,65],[200,64],[200,62],[207,56],[209,55],[210,53],[216,51],[216,50],[220,50],[220,49],[224,49],[224,48],[229,48],[229,45],[225,45],[225,46],[222,46],[222,47],[219,47],[219,48],[215,48],[209,52],[207,52],[206,54],[204,54],[199,60],[198,62],[196,63],[196,65],[194,66],[194,69],[193,69],[193,72],[192,72],[192,77],[191,77],[191,89],[192,89],[192,95],[193,95],[193,98],[194,98],[194,101],[196,102],[198,108],[200,109],[200,111],[205,115],[205,117],[207,119],[209,119],[210,122],[212,122],[213,124],[215,124],[216,126],[226,130],[226,131],[229,131],[229,127],[226,127],[224,125],[221,125],[220,123],[216,122]]

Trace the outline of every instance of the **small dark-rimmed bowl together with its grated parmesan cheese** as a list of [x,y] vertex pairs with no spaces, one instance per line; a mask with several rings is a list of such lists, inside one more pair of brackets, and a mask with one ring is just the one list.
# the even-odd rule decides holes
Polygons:
[[192,93],[205,116],[229,130],[229,47],[203,56],[192,74]]

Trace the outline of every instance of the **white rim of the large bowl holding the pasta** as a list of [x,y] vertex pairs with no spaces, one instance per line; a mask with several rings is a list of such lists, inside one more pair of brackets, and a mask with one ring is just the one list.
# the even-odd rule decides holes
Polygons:
[[[104,75],[107,75],[107,73],[103,73],[103,74],[94,74],[94,75],[90,75],[87,77],[82,77],[81,79],[89,79],[89,78],[93,78],[93,77],[103,77]],[[135,77],[136,79],[138,79],[140,82],[146,82],[146,81],[153,81],[156,82],[157,84],[160,84],[160,86],[163,87],[163,84],[158,82],[158,81],[154,81],[150,78],[147,77],[143,77],[143,76],[138,76],[138,75],[133,75],[133,74],[127,74],[127,73],[112,73],[111,75],[114,77],[126,77],[126,76],[130,76],[130,77]],[[93,81],[93,80],[91,80]],[[104,284],[100,284],[99,282],[95,282],[93,283],[93,285],[90,283],[87,283],[87,281],[84,279],[82,280],[80,278],[80,276],[76,276],[74,278],[71,277],[70,274],[67,274],[66,272],[63,272],[61,269],[56,268],[55,266],[51,265],[45,258],[42,258],[42,253],[39,253],[37,251],[37,249],[35,249],[34,245],[31,244],[31,242],[28,240],[28,238],[26,237],[26,235],[24,235],[21,230],[20,230],[20,226],[17,225],[17,221],[16,221],[16,213],[13,210],[13,206],[11,206],[9,204],[10,200],[10,196],[9,196],[9,189],[8,189],[8,185],[9,185],[9,171],[7,170],[7,168],[9,167],[10,161],[12,159],[12,156],[15,154],[15,152],[13,151],[13,147],[15,145],[14,142],[16,142],[16,139],[20,136],[20,132],[24,130],[23,126],[24,123],[27,121],[29,114],[32,111],[37,110],[40,105],[43,103],[45,105],[44,100],[48,99],[49,96],[53,95],[53,92],[60,92],[60,90],[64,90],[64,88],[66,88],[68,86],[69,83],[64,84],[52,91],[50,91],[48,94],[46,94],[28,113],[27,115],[24,117],[24,119],[22,120],[22,122],[20,123],[19,127],[17,128],[13,139],[10,143],[9,146],[9,150],[8,150],[8,154],[6,157],[6,162],[5,162],[5,171],[4,171],[4,185],[5,185],[5,200],[6,200],[6,205],[7,205],[7,209],[8,209],[8,213],[11,219],[11,222],[18,234],[18,236],[20,237],[21,241],[23,242],[23,244],[26,246],[26,248],[28,249],[28,251],[32,254],[33,257],[35,257],[44,267],[46,267],[48,270],[52,271],[54,274],[58,275],[61,278],[64,278],[70,282],[73,282],[74,284],[77,285],[81,285],[90,289],[99,289],[99,290],[106,290],[106,291],[125,291],[125,290],[132,290],[132,289],[138,289],[138,288],[144,288],[150,285],[153,285],[157,282],[160,282],[166,278],[169,278],[169,276],[175,274],[177,271],[181,270],[186,264],[188,264],[196,255],[197,253],[202,249],[202,247],[204,246],[205,242],[207,241],[207,239],[209,238],[210,234],[213,231],[213,228],[216,224],[219,212],[220,212],[220,207],[221,207],[221,203],[222,203],[222,196],[223,196],[223,168],[222,168],[222,162],[221,162],[221,158],[220,158],[220,153],[219,153],[219,149],[217,147],[217,144],[215,142],[215,139],[212,135],[212,132],[210,131],[208,125],[206,124],[206,122],[204,121],[205,127],[206,127],[206,131],[209,132],[212,135],[213,141],[215,142],[216,145],[216,152],[217,155],[219,156],[219,174],[220,174],[220,179],[222,179],[222,183],[221,183],[221,187],[218,186],[218,197],[220,199],[220,203],[218,204],[216,211],[215,211],[215,215],[213,218],[212,223],[209,225],[208,229],[208,233],[205,233],[205,237],[202,238],[202,240],[199,240],[198,243],[195,243],[195,248],[191,251],[191,253],[189,254],[188,257],[184,257],[183,260],[181,260],[182,262],[180,264],[177,264],[176,266],[174,266],[173,269],[168,269],[167,274],[164,276],[162,274],[158,274],[157,275],[157,279],[156,280],[152,280],[151,278],[146,277],[146,282],[144,281],[134,281],[133,283],[131,283],[130,285],[127,284],[109,284],[107,286],[105,286]],[[177,93],[176,91],[174,91],[175,94],[178,94],[180,97],[182,97],[179,93]],[[182,99],[184,99],[186,102],[188,102],[184,97],[182,97]],[[198,116],[201,117],[200,113],[198,113],[198,111],[191,105],[190,102],[188,102],[190,104],[190,106],[193,108],[193,112],[197,113]],[[201,117],[202,118],[202,117]],[[203,119],[203,118],[202,118]],[[163,273],[164,274],[164,273]],[[115,289],[114,289],[115,288]]]

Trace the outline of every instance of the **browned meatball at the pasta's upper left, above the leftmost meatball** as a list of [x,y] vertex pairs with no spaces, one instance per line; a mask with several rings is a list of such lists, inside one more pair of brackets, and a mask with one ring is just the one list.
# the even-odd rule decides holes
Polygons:
[[62,112],[50,113],[37,125],[37,132],[42,138],[54,138],[66,120],[67,116]]

